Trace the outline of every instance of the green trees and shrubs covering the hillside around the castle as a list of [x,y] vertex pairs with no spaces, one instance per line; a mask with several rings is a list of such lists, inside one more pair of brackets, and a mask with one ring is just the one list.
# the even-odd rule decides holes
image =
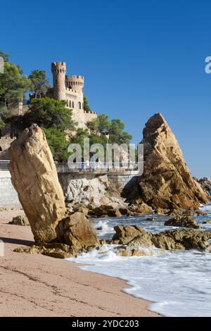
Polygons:
[[[72,120],[72,110],[66,108],[66,101],[47,96],[50,85],[44,70],[32,70],[27,77],[23,75],[19,65],[9,61],[8,54],[0,51],[0,56],[4,58],[4,73],[0,74],[0,129],[10,124],[16,135],[16,132],[20,133],[37,123],[46,134],[53,158],[61,162],[68,159],[68,144],[77,142],[83,149],[84,138],[89,138],[90,144],[103,146],[107,142],[129,144],[132,135],[124,131],[124,123],[120,119],[110,121],[106,114],[87,123],[87,129],[77,128],[77,123]],[[13,105],[17,105],[18,101],[25,101],[27,92],[35,95],[35,98],[27,100],[30,111],[25,115],[13,115]],[[91,111],[85,95],[84,111]],[[67,141],[68,131],[76,134]]]

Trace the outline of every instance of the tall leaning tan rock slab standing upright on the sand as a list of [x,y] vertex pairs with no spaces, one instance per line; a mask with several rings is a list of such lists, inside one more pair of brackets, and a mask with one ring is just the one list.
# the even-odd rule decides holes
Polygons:
[[56,239],[56,226],[66,216],[63,191],[44,132],[32,125],[9,149],[13,186],[37,243]]

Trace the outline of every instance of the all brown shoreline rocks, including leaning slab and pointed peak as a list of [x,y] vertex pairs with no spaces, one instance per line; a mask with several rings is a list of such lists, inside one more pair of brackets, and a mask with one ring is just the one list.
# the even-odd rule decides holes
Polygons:
[[[107,188],[105,204],[100,204],[99,199],[97,204],[94,199],[87,199],[89,204],[81,201],[65,204],[44,132],[37,125],[24,130],[9,149],[9,170],[36,245],[27,249],[19,247],[16,252],[68,258],[100,247],[105,242],[99,242],[90,218],[168,213],[173,217],[165,225],[200,228],[191,214],[193,210],[200,213],[196,209],[207,203],[208,194],[191,177],[179,144],[160,113],[146,123],[142,143],[145,146],[144,172],[137,177],[136,184],[127,187],[126,198],[119,196],[109,200],[109,185],[105,178],[101,180],[101,185],[103,183]],[[84,199],[84,194],[82,197]],[[20,225],[24,223],[23,219],[18,221]],[[170,250],[195,248],[210,251],[207,244],[210,232],[178,230],[151,235],[141,227],[132,226],[115,227],[115,231],[113,241],[108,244],[127,242],[134,247],[146,245]],[[123,232],[126,242],[121,237]]]

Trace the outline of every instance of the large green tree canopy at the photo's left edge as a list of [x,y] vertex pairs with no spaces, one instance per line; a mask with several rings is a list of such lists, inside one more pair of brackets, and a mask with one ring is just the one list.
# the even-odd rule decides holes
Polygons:
[[0,126],[3,127],[10,109],[32,89],[32,82],[23,75],[19,65],[9,61],[8,54],[0,51],[0,56],[4,58],[4,73],[0,73]]

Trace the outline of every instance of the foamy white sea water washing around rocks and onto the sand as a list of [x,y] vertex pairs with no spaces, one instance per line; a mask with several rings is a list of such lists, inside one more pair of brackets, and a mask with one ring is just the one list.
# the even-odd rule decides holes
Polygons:
[[[201,210],[207,216],[198,216],[196,220],[203,225],[204,220],[211,220],[211,204]],[[154,217],[155,221],[146,220],[148,217]],[[140,225],[153,233],[176,229],[164,225],[167,219],[162,215],[107,218],[94,221],[94,227],[99,229],[96,232],[100,239],[109,239],[115,225]],[[203,230],[211,230],[211,224],[203,225]],[[105,245],[69,260],[86,263],[87,266],[81,267],[83,270],[125,280],[131,287],[124,292],[154,302],[149,308],[163,316],[211,316],[210,253],[150,248],[146,249],[148,256],[120,257],[114,247]]]

